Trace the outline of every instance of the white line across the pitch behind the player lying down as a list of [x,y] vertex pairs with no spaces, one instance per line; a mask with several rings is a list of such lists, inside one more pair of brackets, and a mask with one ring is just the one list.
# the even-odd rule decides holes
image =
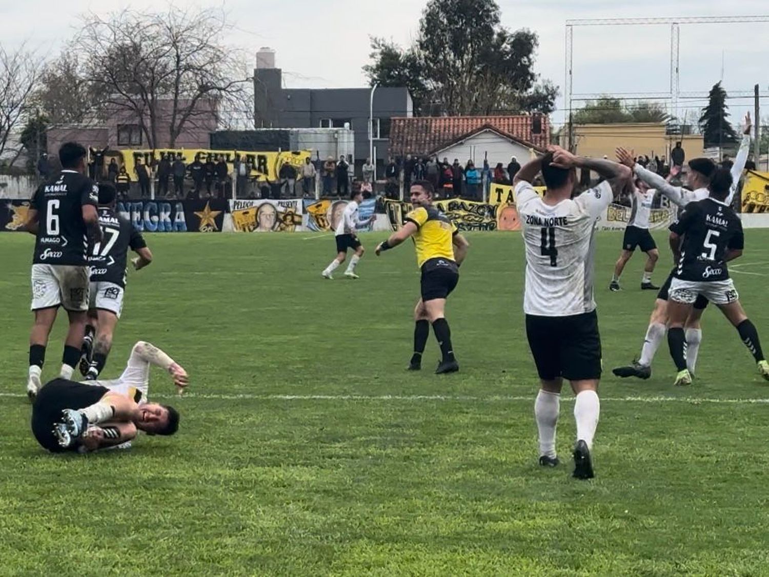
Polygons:
[[[401,401],[414,403],[420,401],[441,401],[445,403],[504,403],[504,402],[534,402],[536,395],[494,395],[494,396],[466,396],[466,395],[252,395],[241,393],[237,395],[222,395],[217,393],[185,393],[184,399],[207,400],[278,400],[278,401]],[[0,393],[0,397],[26,398],[24,393]],[[178,395],[158,394],[152,395],[155,399],[178,399]],[[564,401],[574,400],[566,397]],[[696,396],[602,396],[601,402],[608,403],[689,403],[689,404],[769,404],[769,399],[714,399]]]

